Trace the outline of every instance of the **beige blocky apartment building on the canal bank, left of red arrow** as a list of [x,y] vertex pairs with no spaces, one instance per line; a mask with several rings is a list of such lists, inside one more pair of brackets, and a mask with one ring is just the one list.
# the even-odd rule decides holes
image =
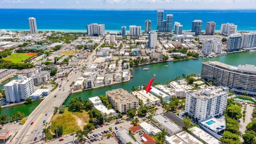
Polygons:
[[139,108],[139,100],[122,88],[106,91],[106,96],[108,102],[118,112],[126,113],[130,109]]

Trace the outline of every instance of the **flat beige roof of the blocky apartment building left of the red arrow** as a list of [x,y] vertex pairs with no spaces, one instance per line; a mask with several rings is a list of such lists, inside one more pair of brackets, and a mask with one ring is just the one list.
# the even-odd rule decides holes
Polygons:
[[130,94],[127,90],[123,88],[118,88],[114,90],[106,91],[106,95],[112,97],[112,99],[119,101],[120,103],[127,103],[127,101],[138,101],[138,99]]

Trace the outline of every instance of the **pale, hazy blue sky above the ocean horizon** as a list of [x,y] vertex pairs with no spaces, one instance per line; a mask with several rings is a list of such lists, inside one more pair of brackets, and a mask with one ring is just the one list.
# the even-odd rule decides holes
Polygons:
[[256,0],[0,0],[0,8],[256,9]]

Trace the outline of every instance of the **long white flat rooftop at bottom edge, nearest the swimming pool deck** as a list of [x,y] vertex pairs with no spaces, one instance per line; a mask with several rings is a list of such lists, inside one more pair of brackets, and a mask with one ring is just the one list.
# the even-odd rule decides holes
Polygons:
[[201,128],[198,128],[196,126],[194,126],[193,128],[190,128],[190,131],[196,135],[198,138],[201,138],[202,140],[204,140],[205,142],[207,142],[208,144],[220,144],[221,142],[214,138],[213,136],[211,136],[210,134],[206,133],[204,130],[202,130]]

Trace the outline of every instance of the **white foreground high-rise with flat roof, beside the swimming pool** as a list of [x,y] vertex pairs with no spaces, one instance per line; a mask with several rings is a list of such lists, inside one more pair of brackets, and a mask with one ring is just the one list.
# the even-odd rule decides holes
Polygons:
[[214,116],[222,116],[226,108],[228,88],[208,86],[191,90],[186,95],[185,112],[196,121]]

